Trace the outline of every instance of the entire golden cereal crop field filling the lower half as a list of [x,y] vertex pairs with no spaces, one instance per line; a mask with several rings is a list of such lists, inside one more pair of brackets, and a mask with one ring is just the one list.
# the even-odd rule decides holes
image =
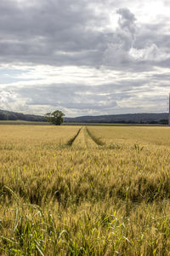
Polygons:
[[1,255],[169,255],[169,127],[0,125]]

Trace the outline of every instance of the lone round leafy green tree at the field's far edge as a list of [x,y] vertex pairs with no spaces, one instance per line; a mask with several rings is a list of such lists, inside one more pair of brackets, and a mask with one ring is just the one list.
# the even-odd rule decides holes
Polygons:
[[53,125],[61,125],[64,122],[65,113],[55,110],[51,113],[46,113],[45,118]]

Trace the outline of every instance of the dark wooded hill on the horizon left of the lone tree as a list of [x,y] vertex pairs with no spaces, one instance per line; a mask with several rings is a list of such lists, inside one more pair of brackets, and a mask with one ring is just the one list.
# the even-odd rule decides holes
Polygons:
[[0,120],[24,120],[33,122],[47,121],[44,117],[34,114],[16,113],[0,109]]

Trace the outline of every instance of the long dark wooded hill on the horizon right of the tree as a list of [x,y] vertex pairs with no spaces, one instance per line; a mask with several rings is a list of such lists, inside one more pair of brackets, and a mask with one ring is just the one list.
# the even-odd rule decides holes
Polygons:
[[75,123],[125,123],[125,124],[162,124],[167,125],[168,113],[126,113],[99,116],[65,118],[65,122]]

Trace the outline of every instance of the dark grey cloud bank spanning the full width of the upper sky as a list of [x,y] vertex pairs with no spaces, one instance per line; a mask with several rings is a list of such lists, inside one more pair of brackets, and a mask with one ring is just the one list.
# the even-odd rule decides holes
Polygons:
[[[101,12],[106,5],[119,15],[116,29],[106,29],[109,17]],[[94,11],[95,6],[100,6],[99,13]],[[154,29],[154,25],[141,25],[138,29],[138,17],[127,8],[116,10],[114,6],[115,1],[109,0],[91,4],[86,0],[1,0],[0,61],[134,71],[163,67],[165,60],[150,62],[129,54],[133,47],[147,48],[149,44],[169,54],[170,36],[161,32],[163,24]]]

